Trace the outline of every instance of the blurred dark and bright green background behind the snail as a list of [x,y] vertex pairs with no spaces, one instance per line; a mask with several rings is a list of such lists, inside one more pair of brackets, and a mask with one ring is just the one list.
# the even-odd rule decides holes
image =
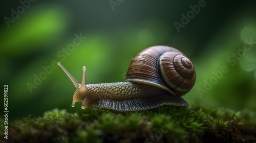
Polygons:
[[[80,82],[86,65],[87,84],[120,82],[131,59],[153,45],[176,47],[193,61],[197,81],[184,96],[190,105],[256,111],[255,1],[26,2],[22,8],[19,1],[1,1],[1,84],[2,93],[8,84],[10,121],[52,108],[80,109],[81,103],[71,107],[75,87],[62,69],[42,75],[43,66],[61,61]],[[182,24],[182,14],[199,3],[204,7],[190,12],[178,32],[174,22]],[[66,54],[80,34],[87,38]],[[222,66],[228,72],[218,79],[212,72]],[[45,79],[30,92],[27,84],[40,74]]]

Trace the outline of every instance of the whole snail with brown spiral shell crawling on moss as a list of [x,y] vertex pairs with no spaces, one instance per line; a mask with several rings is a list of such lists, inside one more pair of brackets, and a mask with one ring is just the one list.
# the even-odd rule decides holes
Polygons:
[[193,63],[182,52],[170,46],[151,46],[131,61],[125,82],[85,83],[83,66],[81,84],[58,62],[76,87],[72,107],[98,107],[117,111],[152,109],[163,105],[188,106],[181,98],[195,84]]

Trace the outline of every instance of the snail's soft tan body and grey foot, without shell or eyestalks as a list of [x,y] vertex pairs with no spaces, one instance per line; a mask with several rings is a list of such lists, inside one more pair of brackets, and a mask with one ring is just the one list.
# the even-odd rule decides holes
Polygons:
[[99,107],[118,111],[151,109],[161,105],[188,106],[181,98],[155,86],[135,83],[116,82],[88,84],[82,92],[79,87],[73,96],[75,102],[82,102],[81,108]]

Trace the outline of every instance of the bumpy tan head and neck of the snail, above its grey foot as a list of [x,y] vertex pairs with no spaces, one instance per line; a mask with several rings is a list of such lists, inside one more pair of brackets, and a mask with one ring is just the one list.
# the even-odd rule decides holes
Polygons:
[[100,99],[127,100],[132,98],[154,96],[157,93],[165,92],[164,90],[151,85],[145,86],[145,84],[134,82],[87,84],[86,87],[86,91],[79,90],[79,87],[75,90],[72,106],[74,106],[75,102],[79,101],[90,103],[93,100]]

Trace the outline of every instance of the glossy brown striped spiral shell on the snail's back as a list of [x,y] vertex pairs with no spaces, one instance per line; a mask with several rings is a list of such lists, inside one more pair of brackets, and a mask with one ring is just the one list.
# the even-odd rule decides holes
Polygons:
[[133,58],[126,81],[153,85],[182,96],[194,86],[196,71],[182,52],[159,45],[148,47]]

